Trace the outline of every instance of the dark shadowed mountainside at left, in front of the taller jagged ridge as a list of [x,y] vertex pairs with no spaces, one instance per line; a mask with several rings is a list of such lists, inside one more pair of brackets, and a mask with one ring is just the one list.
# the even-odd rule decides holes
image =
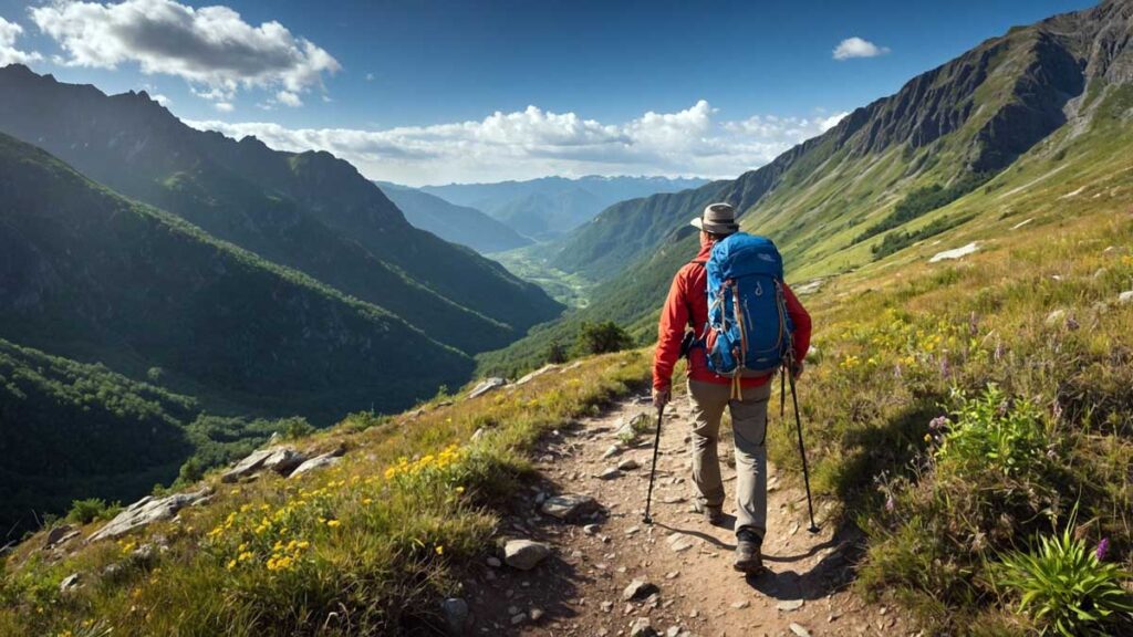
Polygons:
[[326,424],[459,385],[472,367],[401,318],[220,241],[0,136],[0,334],[212,410]]

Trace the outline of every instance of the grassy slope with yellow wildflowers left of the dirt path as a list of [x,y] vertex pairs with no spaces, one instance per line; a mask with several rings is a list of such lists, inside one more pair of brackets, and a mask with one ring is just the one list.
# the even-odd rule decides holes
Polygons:
[[[530,474],[531,444],[641,388],[646,370],[644,353],[610,355],[475,400],[437,399],[419,416],[358,414],[304,443],[346,445],[332,469],[237,486],[210,476],[210,506],[60,563],[32,540],[5,566],[0,634],[75,635],[87,622],[114,635],[438,630],[438,601],[491,550],[499,508]],[[488,433],[467,442],[482,426]],[[137,552],[157,536],[168,551]],[[86,585],[61,595],[71,572]]]

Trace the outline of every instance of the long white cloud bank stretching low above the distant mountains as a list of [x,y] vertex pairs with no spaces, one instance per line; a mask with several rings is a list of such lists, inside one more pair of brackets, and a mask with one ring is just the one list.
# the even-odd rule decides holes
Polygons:
[[189,121],[287,151],[324,150],[373,179],[404,184],[497,181],[546,175],[698,175],[735,177],[819,135],[832,117],[752,116],[724,120],[701,100],[616,124],[538,107],[482,120],[383,130],[287,128],[272,122]]

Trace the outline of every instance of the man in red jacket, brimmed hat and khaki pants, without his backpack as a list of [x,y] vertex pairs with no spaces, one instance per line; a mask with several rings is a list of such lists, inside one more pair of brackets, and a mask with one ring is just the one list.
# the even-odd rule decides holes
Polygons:
[[[731,409],[736,470],[734,567],[755,574],[763,570],[760,549],[767,530],[767,448],[764,443],[770,379],[775,372],[739,377],[719,375],[709,368],[705,349],[709,331],[706,264],[713,246],[738,232],[740,227],[735,223],[735,209],[726,203],[707,206],[701,216],[692,220],[692,226],[700,230],[700,253],[676,272],[661,313],[653,363],[653,400],[658,409],[670,401],[673,367],[682,354],[688,356],[689,404],[693,418],[692,479],[699,490],[693,510],[712,525],[724,520],[724,484],[716,443],[724,408]],[[777,256],[777,252],[775,254]],[[810,346],[810,315],[791,289],[785,283],[782,287],[786,315],[794,326],[794,363],[787,372],[798,379]],[[685,340],[687,328],[691,329],[695,341]],[[768,329],[778,330],[778,325]],[[693,345],[688,347],[689,342]]]

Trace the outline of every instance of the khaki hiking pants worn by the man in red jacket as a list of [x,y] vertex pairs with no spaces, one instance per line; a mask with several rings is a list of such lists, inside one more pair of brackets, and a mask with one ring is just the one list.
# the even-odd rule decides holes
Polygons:
[[724,504],[719,476],[719,421],[724,408],[732,411],[735,439],[735,530],[748,528],[763,537],[767,532],[767,401],[770,383],[743,389],[743,400],[730,400],[729,384],[689,381],[692,408],[692,481],[701,506]]

